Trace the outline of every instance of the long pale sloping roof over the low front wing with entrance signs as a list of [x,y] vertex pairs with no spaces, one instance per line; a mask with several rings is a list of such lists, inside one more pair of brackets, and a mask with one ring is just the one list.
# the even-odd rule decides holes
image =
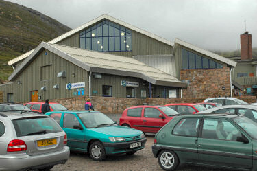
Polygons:
[[19,73],[21,73],[34,58],[36,58],[36,54],[40,53],[42,49],[48,49],[50,52],[57,54],[86,71],[119,76],[132,76],[142,78],[143,80],[147,80],[156,85],[186,87],[186,83],[181,82],[168,73],[164,73],[159,69],[135,60],[134,58],[44,42],[36,47],[34,52],[19,65],[8,79],[14,80],[14,78],[16,78],[16,76],[18,76]]

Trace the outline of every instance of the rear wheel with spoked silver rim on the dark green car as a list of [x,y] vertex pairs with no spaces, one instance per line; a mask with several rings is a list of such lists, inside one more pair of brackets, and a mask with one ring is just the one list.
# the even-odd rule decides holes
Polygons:
[[158,156],[160,167],[164,170],[175,170],[178,167],[178,156],[171,150],[162,150]]

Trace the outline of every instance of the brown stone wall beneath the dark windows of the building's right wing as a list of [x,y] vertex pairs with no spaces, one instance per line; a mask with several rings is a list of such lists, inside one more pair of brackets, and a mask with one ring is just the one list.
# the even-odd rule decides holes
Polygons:
[[188,80],[182,89],[183,98],[204,98],[230,95],[230,68],[182,69],[180,80]]

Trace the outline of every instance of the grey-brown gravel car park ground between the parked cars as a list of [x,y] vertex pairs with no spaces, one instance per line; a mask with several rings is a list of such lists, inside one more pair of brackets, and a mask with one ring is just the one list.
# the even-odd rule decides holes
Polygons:
[[[121,114],[107,114],[108,117],[119,123]],[[147,143],[145,148],[134,155],[109,156],[105,161],[93,161],[89,155],[71,152],[69,160],[64,165],[54,166],[53,171],[84,171],[84,170],[104,170],[104,171],[134,171],[134,170],[162,170],[158,164],[158,159],[154,158],[151,146],[154,143],[154,135],[146,135]],[[184,165],[178,171],[225,171],[220,168],[206,168],[200,166]],[[231,170],[230,170],[231,171]]]

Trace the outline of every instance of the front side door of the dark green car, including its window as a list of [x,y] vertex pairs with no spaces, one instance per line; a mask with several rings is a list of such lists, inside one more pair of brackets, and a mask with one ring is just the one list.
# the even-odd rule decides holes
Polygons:
[[[252,141],[236,141],[245,136],[229,119],[204,117],[198,138],[199,162],[234,168],[252,168]],[[246,137],[246,136],[245,136]]]

